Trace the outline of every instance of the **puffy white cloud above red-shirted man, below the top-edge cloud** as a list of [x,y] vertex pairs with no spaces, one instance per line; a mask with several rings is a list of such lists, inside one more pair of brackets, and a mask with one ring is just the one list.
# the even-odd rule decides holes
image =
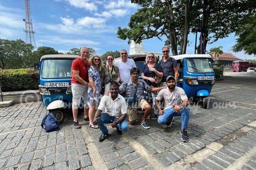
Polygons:
[[106,18],[83,17],[77,19],[77,24],[87,28],[102,28],[105,26]]

